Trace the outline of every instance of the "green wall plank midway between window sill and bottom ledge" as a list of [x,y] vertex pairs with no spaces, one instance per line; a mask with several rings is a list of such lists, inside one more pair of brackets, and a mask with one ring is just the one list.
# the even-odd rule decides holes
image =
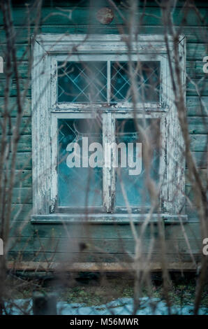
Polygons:
[[[166,239],[165,252],[169,253],[200,253],[203,247],[201,239],[188,239],[187,246],[184,239]],[[134,253],[135,241],[133,239],[80,239],[80,238],[42,238],[42,237],[10,237],[8,250],[34,251],[34,252],[61,252],[69,257],[73,253]],[[142,239],[140,252],[161,253],[159,239]]]

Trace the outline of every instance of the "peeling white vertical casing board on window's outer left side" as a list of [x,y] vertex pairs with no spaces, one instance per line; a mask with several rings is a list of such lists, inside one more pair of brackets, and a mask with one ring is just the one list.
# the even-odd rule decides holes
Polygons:
[[[42,45],[34,43],[34,66],[32,70],[32,162],[33,162],[33,209],[35,214],[50,211],[50,57]],[[43,74],[44,72],[44,74]],[[41,76],[41,78],[40,78]]]

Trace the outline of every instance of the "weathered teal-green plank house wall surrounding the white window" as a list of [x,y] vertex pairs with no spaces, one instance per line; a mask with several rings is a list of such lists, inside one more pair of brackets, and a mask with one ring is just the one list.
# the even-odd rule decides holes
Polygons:
[[[76,1],[45,1],[42,10],[42,21],[40,32],[42,33],[86,33],[89,27],[89,14],[91,13],[87,8],[86,3],[82,2],[79,7],[73,7]],[[53,7],[51,6],[53,3]],[[160,34],[163,32],[161,20],[159,18],[160,10],[156,7],[156,3],[147,1],[146,12],[154,15],[144,15],[144,27],[142,27],[143,34]],[[200,14],[205,17],[206,8],[203,3],[199,4]],[[71,20],[61,15],[49,15],[50,13],[59,10],[56,7],[63,9],[73,9]],[[174,22],[176,25],[181,23],[180,7],[177,7],[174,13]],[[13,6],[13,20],[17,31],[17,57],[20,59],[26,50],[29,40],[27,29],[22,29],[22,22],[26,10],[21,2],[17,2]],[[60,11],[59,11],[60,13]],[[47,17],[47,15],[49,15]],[[94,14],[92,14],[94,15]],[[158,15],[158,18],[156,18]],[[91,19],[91,31],[93,33],[116,34],[118,33],[118,25],[122,27],[124,22],[121,18],[114,18],[110,25],[101,25],[96,18]],[[195,83],[200,81],[200,78],[205,75],[202,71],[202,58],[208,55],[206,50],[205,40],[203,39],[203,29],[200,22],[192,10],[188,15],[186,27],[181,31],[187,38],[187,52],[186,52],[186,70],[193,78]],[[5,43],[5,36],[2,30],[1,18],[1,43]],[[27,55],[20,65],[20,73],[22,80],[27,78]],[[3,75],[0,76],[3,79]],[[208,103],[208,84],[203,86],[203,99]],[[1,84],[2,86],[2,84]],[[202,87],[202,86],[200,86]],[[10,102],[15,104],[15,80],[13,80]],[[0,105],[3,104],[3,88],[0,90]],[[188,111],[189,131],[191,134],[191,151],[195,155],[195,160],[200,168],[201,176],[205,176],[206,155],[205,144],[207,139],[207,118],[205,113],[200,111],[200,102],[198,100],[195,88],[189,81],[187,81],[186,89],[186,104]],[[15,117],[15,110],[13,111]],[[46,258],[68,259],[71,254],[68,251],[73,251],[73,260],[77,261],[110,261],[126,260],[128,253],[134,252],[134,241],[128,224],[119,224],[117,226],[112,224],[95,224],[88,225],[87,228],[79,224],[67,225],[67,230],[62,224],[36,224],[30,222],[30,214],[32,208],[32,181],[31,181],[31,90],[27,94],[27,102],[25,104],[24,117],[22,125],[27,125],[22,133],[22,137],[18,146],[17,165],[16,165],[16,183],[13,195],[13,215],[18,214],[17,219],[12,223],[11,241],[18,237],[17,243],[11,248],[10,257],[16,259],[17,255],[22,253],[24,260],[42,260],[45,262]],[[191,193],[190,183],[186,180],[186,192]],[[191,245],[192,252],[197,255],[201,253],[200,227],[198,225],[198,218],[193,209],[186,207],[188,214],[188,223],[184,225],[186,234]],[[14,217],[15,218],[15,217]],[[140,224],[138,224],[140,230]],[[88,235],[89,232],[89,235]],[[70,242],[68,243],[68,234],[70,235]],[[157,237],[158,231],[155,225],[154,236]],[[52,237],[52,240],[51,240]],[[87,237],[87,239],[86,239]],[[122,243],[118,239],[122,238]],[[86,248],[80,251],[79,246],[75,246],[71,241],[77,238],[80,242],[86,242]],[[168,260],[176,262],[179,260],[190,261],[190,255],[184,234],[181,231],[179,224],[165,225],[165,239],[167,241]],[[174,241],[173,241],[174,239]],[[147,229],[144,235],[144,249],[147,251],[150,241],[150,228]],[[174,242],[174,243],[173,243]],[[122,246],[124,244],[124,246]],[[81,249],[83,244],[80,245]],[[97,246],[98,249],[94,248]],[[177,250],[178,248],[178,250]],[[104,253],[101,253],[103,249]],[[57,251],[55,258],[54,251]],[[160,248],[156,241],[154,246],[154,260],[160,259]],[[114,258],[116,257],[116,258]]]

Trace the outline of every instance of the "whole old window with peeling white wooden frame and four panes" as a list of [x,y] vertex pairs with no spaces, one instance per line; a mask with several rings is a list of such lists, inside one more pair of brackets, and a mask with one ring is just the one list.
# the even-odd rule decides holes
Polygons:
[[[140,221],[151,207],[142,158],[146,134],[160,211],[174,221],[184,204],[183,143],[162,37],[140,36],[134,44],[136,106],[121,36],[82,39],[40,35],[35,44],[32,220],[59,221],[59,214],[62,221],[80,220],[87,212],[95,221],[128,221],[131,210]],[[184,45],[181,38],[183,58]]]

